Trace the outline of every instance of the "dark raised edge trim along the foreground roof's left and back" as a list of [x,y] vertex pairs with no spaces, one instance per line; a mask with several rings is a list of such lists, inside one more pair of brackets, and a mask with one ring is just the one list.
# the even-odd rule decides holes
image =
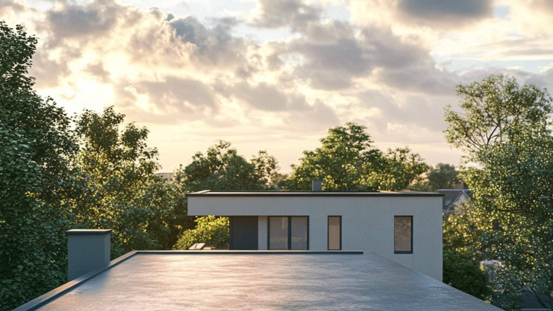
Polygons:
[[137,255],[137,254],[158,254],[158,255],[199,255],[199,254],[205,254],[205,255],[215,255],[215,254],[234,254],[234,255],[242,255],[242,254],[260,254],[260,255],[274,255],[274,254],[292,254],[292,255],[298,255],[298,254],[304,254],[304,255],[314,255],[314,254],[322,254],[322,255],[363,255],[363,251],[276,251],[276,250],[265,250],[265,251],[238,251],[238,250],[209,250],[209,251],[130,251],[126,253],[125,255],[122,255],[111,262],[109,262],[109,265],[104,268],[96,269],[94,271],[88,272],[86,274],[83,274],[82,276],[71,280],[65,284],[63,284],[60,287],[56,287],[52,289],[50,292],[43,294],[42,296],[36,297],[33,300],[30,300],[27,303],[24,303],[20,305],[19,307],[13,309],[12,311],[30,311],[30,310],[36,310],[40,307],[43,307],[43,305],[48,304],[52,300],[62,296],[63,294],[71,291],[72,289],[75,289],[76,287],[79,287],[81,284],[85,283],[86,281],[92,279],[93,277],[97,276],[98,274],[107,271],[108,269],[111,269],[119,263],[122,263],[123,261],[128,260],[129,258]]

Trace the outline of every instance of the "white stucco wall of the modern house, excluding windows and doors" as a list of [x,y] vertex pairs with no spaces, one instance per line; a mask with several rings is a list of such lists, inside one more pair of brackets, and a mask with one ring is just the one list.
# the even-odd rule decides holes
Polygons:
[[[259,249],[267,249],[267,216],[309,216],[309,249],[327,249],[327,217],[342,216],[342,250],[375,252],[442,280],[441,196],[191,196],[189,215],[259,216]],[[413,254],[394,254],[394,216],[413,216]]]

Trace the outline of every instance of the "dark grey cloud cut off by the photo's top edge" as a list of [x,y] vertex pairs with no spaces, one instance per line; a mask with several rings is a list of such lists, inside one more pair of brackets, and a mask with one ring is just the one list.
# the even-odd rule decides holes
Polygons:
[[493,0],[400,0],[400,22],[459,27],[493,15]]

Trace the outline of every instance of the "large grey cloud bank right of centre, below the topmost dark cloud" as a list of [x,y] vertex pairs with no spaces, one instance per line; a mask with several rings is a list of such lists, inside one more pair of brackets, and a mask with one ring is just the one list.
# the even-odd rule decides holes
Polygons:
[[356,29],[343,22],[311,23],[301,38],[275,48],[275,68],[286,55],[301,54],[290,79],[320,90],[345,90],[353,80],[374,77],[394,89],[451,94],[456,75],[436,68],[429,51],[399,38],[388,28]]

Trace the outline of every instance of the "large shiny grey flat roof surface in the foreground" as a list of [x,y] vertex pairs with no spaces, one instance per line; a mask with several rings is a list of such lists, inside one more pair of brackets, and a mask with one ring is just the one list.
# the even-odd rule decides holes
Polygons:
[[83,309],[500,310],[374,253],[254,251],[134,252],[38,308]]

